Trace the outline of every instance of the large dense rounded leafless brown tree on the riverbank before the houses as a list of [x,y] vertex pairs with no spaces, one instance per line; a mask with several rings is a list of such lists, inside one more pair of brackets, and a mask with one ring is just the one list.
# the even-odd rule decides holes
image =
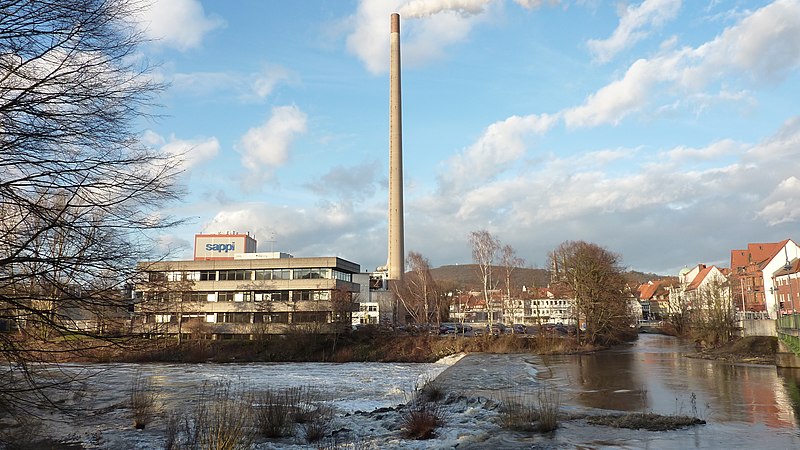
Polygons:
[[632,318],[619,256],[597,244],[567,241],[550,259],[553,281],[574,295],[578,319],[585,320],[584,339],[593,344],[623,339]]

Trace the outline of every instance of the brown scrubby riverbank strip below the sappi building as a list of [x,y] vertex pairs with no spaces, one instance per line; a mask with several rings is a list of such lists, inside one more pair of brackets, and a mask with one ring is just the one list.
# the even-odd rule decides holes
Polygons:
[[[61,362],[435,362],[458,353],[570,354],[597,350],[574,338],[401,334],[379,329],[352,333],[265,335],[257,340],[185,340],[134,338],[84,343],[60,353]],[[102,345],[101,345],[102,344]],[[52,353],[51,353],[52,354]]]

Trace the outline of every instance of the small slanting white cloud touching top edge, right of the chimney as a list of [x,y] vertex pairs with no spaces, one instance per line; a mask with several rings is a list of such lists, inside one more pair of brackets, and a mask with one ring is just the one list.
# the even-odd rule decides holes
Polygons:
[[617,28],[608,39],[590,40],[587,45],[596,61],[605,63],[620,51],[641,41],[650,33],[674,19],[681,7],[681,0],[645,0],[639,6],[623,8]]

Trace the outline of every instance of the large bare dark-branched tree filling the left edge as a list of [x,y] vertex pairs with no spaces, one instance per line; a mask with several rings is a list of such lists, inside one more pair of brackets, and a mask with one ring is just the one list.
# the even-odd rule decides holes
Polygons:
[[[136,127],[161,86],[137,51],[135,0],[6,0],[0,14],[0,403],[42,393],[30,362],[65,312],[118,306],[135,263],[152,259],[160,211],[180,197],[180,161],[141,144]],[[28,333],[28,330],[46,332]],[[77,348],[102,345],[62,340]],[[9,380],[22,380],[15,384]],[[25,397],[23,399],[23,397]]]

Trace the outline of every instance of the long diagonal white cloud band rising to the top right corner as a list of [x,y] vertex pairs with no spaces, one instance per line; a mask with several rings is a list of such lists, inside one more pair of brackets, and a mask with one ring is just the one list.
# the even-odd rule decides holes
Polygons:
[[[564,111],[568,127],[617,124],[672,90],[699,92],[724,75],[749,74],[753,82],[780,79],[800,65],[800,2],[778,0],[713,41],[652,59],[639,59],[616,81]],[[666,89],[665,89],[666,88]]]

